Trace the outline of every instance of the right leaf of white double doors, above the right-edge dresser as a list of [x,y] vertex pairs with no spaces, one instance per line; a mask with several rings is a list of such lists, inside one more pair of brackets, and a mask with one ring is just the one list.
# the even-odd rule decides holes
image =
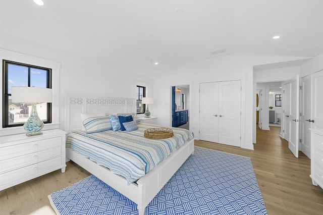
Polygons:
[[313,105],[311,119],[313,128],[323,129],[323,70],[313,74]]

